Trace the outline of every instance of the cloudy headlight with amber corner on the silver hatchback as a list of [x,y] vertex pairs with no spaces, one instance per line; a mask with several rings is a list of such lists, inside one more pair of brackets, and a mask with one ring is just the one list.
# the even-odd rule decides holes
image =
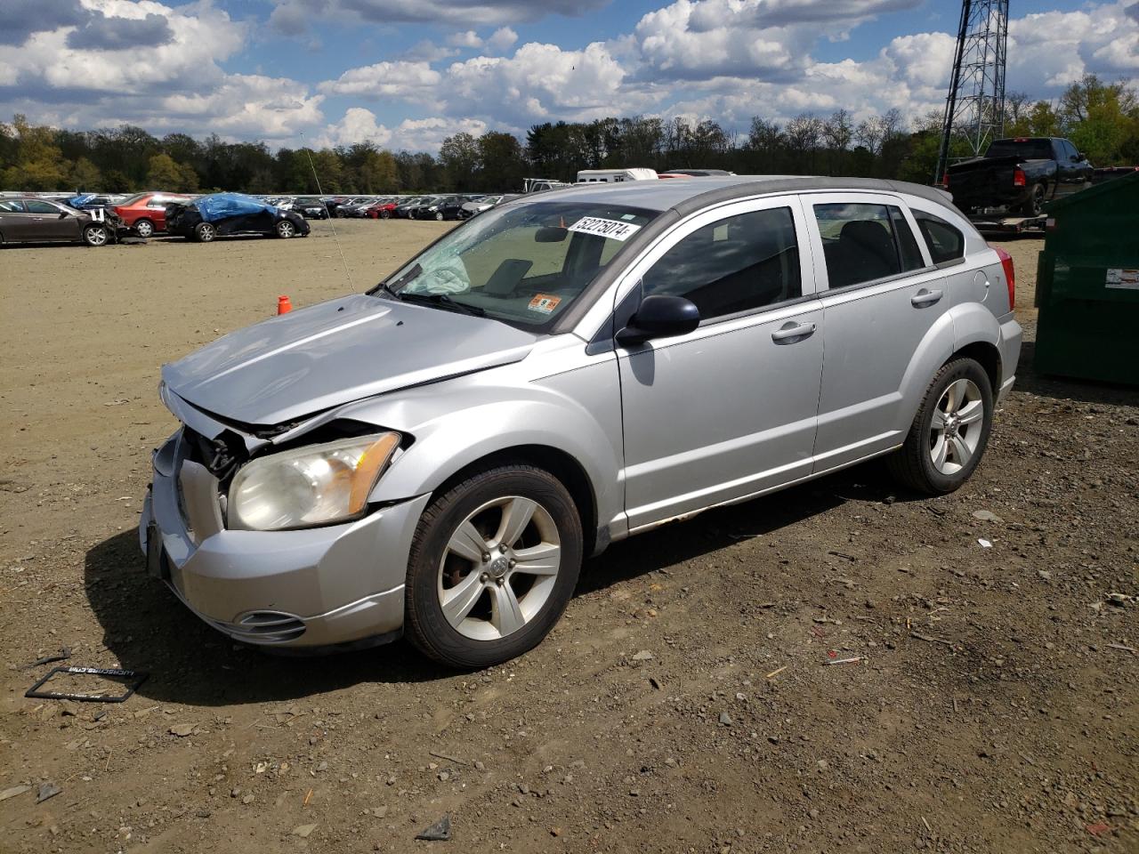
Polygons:
[[282,531],[363,515],[400,434],[357,436],[251,460],[229,487],[229,527]]

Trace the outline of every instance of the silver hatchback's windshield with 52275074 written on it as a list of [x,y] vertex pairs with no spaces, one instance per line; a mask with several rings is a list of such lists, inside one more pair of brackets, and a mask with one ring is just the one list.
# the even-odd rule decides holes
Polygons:
[[407,299],[443,295],[515,326],[552,325],[656,215],[597,202],[494,208],[451,231],[385,284]]

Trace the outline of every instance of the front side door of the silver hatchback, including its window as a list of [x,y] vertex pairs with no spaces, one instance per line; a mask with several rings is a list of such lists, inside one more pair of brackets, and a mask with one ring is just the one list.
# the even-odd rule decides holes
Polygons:
[[618,350],[630,531],[811,473],[822,310],[803,232],[794,197],[736,203],[630,270],[622,305],[663,294],[700,311],[687,335]]

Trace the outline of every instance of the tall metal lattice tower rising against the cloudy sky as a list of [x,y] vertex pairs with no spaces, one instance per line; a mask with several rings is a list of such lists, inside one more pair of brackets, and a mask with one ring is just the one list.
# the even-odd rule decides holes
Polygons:
[[991,139],[1005,132],[1007,43],[1008,0],[964,0],[935,183],[945,173],[949,143],[954,134],[968,140],[977,156]]

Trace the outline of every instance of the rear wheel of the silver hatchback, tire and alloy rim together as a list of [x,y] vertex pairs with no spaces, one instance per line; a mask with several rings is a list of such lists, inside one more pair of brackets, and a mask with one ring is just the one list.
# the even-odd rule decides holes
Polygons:
[[992,417],[984,368],[973,359],[950,362],[929,384],[906,443],[890,458],[892,474],[917,492],[952,492],[981,462]]

